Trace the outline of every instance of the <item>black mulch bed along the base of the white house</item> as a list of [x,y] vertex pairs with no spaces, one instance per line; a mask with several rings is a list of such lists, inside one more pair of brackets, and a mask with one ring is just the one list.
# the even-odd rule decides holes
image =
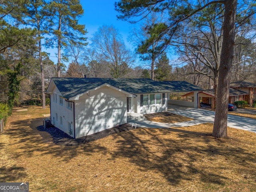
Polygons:
[[76,146],[79,144],[88,143],[88,142],[91,142],[94,140],[98,140],[98,139],[107,137],[111,134],[132,130],[132,129],[134,129],[134,127],[132,127],[130,124],[126,123],[126,124],[122,124],[120,126],[115,126],[113,128],[106,129],[104,131],[94,133],[92,135],[84,136],[84,137],[81,137],[78,139],[72,138],[71,136],[69,136],[68,134],[66,134],[65,132],[63,132],[62,130],[60,130],[54,126],[51,126],[49,128],[44,128],[44,126],[38,126],[37,129],[39,131],[48,132],[52,136],[53,142],[55,144],[64,145],[64,146]]

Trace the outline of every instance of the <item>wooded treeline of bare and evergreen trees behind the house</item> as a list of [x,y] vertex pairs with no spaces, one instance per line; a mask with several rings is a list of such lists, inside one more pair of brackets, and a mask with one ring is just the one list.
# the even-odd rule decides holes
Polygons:
[[[156,1],[143,1],[150,2]],[[209,3],[187,17],[200,0],[194,4],[180,1],[173,10],[168,9],[173,1],[160,2],[155,10],[141,14],[143,19],[130,20],[134,30],[129,42],[135,48],[131,50],[118,26],[101,26],[88,44],[86,27],[78,22],[84,14],[79,0],[0,1],[0,102],[10,106],[39,102],[44,107],[43,92],[56,76],[185,80],[202,88],[217,88],[223,4]],[[117,2],[116,10],[129,10],[129,5],[123,5],[126,7]],[[174,16],[179,16],[180,22],[168,26]],[[123,14],[119,18],[129,17]],[[235,23],[230,81],[255,83],[254,1],[239,2]],[[47,48],[57,50],[57,63]]]

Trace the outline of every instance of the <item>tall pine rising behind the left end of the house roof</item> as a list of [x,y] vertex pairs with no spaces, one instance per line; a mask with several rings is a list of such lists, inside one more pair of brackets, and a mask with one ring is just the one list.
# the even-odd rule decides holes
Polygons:
[[79,0],[52,0],[48,7],[50,15],[48,30],[52,35],[46,38],[47,45],[58,48],[57,76],[60,77],[61,49],[67,46],[68,40],[86,44],[85,25],[78,24],[78,18],[84,14]]

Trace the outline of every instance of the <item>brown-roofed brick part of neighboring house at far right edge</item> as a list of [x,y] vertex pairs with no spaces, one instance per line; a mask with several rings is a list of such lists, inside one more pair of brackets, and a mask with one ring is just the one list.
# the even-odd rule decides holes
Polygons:
[[244,100],[247,101],[249,105],[252,105],[253,101],[256,100],[255,83],[237,81],[231,83],[230,87],[248,93]]

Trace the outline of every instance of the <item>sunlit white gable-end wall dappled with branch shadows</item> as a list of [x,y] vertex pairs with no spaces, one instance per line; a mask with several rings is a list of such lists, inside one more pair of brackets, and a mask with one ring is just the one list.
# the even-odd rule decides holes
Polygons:
[[76,138],[127,122],[126,94],[104,86],[75,101]]

